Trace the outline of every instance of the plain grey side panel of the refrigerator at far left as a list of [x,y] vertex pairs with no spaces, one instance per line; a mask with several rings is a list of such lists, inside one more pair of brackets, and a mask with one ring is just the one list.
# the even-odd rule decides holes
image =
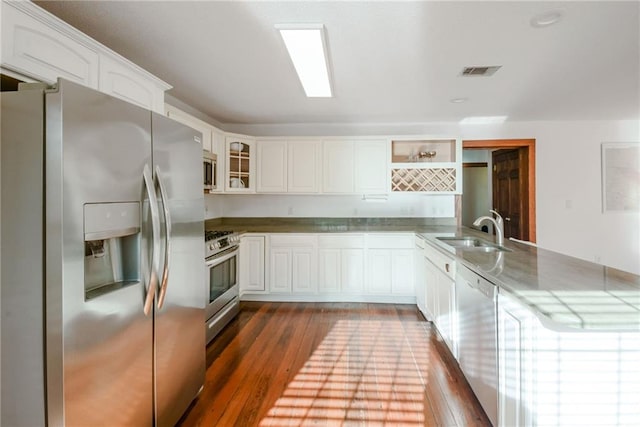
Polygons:
[[45,424],[44,93],[2,92],[0,425]]

